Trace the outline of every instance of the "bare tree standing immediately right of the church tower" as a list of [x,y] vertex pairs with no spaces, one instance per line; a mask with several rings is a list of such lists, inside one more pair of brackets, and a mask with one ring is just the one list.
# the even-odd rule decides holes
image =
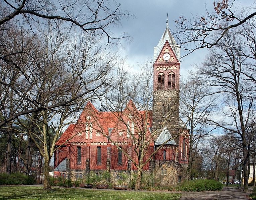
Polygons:
[[207,127],[206,123],[212,110],[215,109],[216,102],[216,98],[208,95],[209,90],[210,88],[196,77],[181,83],[180,114],[189,129],[187,179],[190,178],[196,153],[200,151],[198,145],[215,129],[215,127]]

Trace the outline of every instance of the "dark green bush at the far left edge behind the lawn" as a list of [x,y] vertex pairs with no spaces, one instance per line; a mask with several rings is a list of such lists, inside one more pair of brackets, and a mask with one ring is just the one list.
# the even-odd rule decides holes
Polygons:
[[31,176],[23,175],[19,172],[10,175],[6,173],[0,174],[0,185],[31,185],[35,180]]

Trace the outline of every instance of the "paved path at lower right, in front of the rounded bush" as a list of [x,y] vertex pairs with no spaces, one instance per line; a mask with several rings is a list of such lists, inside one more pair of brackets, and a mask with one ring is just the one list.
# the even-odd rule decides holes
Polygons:
[[223,187],[222,191],[213,192],[182,192],[179,200],[248,200],[247,195],[252,192],[245,193],[241,188]]

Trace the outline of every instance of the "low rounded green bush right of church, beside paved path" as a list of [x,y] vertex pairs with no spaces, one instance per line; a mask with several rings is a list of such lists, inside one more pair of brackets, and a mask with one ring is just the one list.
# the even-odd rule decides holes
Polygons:
[[222,183],[216,180],[197,179],[192,181],[183,181],[182,183],[178,184],[176,190],[186,192],[200,192],[221,190],[222,187]]

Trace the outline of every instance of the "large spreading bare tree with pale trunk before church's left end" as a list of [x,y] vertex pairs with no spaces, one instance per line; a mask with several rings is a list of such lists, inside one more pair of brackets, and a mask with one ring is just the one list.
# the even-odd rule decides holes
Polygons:
[[[71,37],[50,25],[32,37],[36,54],[26,69],[28,79],[15,83],[19,91],[16,95],[23,97],[20,108],[33,110],[40,105],[44,109],[26,113],[17,120],[44,158],[44,189],[51,189],[49,164],[56,150],[55,142],[85,101],[93,99],[95,94],[104,94],[116,58],[89,33],[75,33]],[[66,101],[69,104],[64,106]],[[24,118],[27,123],[21,121]]]

